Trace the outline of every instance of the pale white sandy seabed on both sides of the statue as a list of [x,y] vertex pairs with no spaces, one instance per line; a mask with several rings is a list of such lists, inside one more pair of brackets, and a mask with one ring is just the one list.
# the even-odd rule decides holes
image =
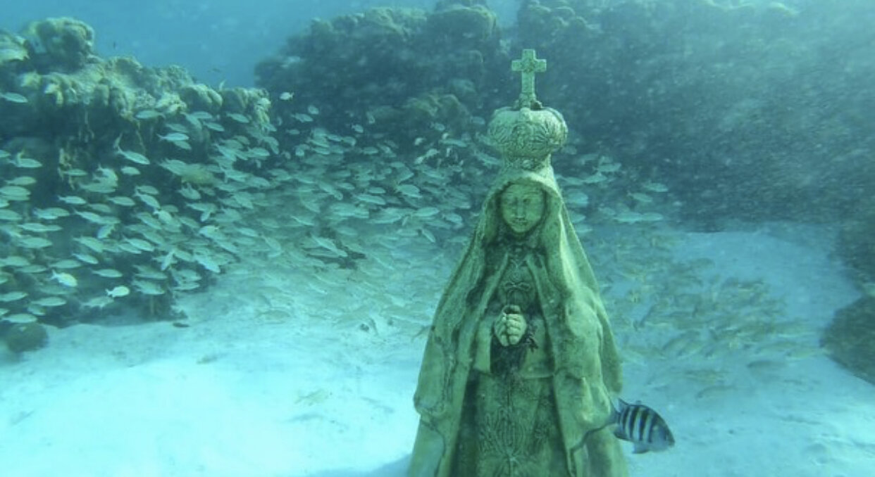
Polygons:
[[[875,387],[817,347],[833,312],[857,296],[830,259],[829,233],[662,232],[649,280],[635,281],[622,273],[622,252],[645,249],[648,234],[620,245],[607,232],[584,240],[611,285],[606,301],[629,356],[623,398],[655,407],[677,439],[664,453],[632,455],[624,444],[632,474],[875,475]],[[0,355],[0,475],[403,475],[417,425],[411,396],[424,337],[416,332],[458,259],[458,247],[448,249],[395,252],[394,269],[369,270],[380,280],[314,280],[289,260],[253,260],[180,301],[189,328],[78,325],[52,330],[47,348],[18,362]],[[709,284],[760,280],[783,300],[783,314],[769,319],[800,326],[781,346],[761,336],[666,354],[675,326],[648,317],[635,331],[652,297],[627,305],[622,297],[646,292],[667,256],[711,259],[691,269],[727,316],[758,308],[721,301]],[[758,319],[767,318],[739,322]]]

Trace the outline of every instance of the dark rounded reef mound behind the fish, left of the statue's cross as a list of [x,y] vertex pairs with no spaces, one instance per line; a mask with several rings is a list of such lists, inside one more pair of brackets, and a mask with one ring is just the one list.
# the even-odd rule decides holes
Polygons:
[[398,137],[439,124],[430,131],[439,137],[470,129],[472,116],[507,100],[489,93],[507,79],[500,38],[483,2],[441,2],[433,12],[376,8],[315,21],[256,74],[277,96],[295,94],[274,101],[283,124],[298,122],[301,104],[315,104],[329,128],[358,123]]

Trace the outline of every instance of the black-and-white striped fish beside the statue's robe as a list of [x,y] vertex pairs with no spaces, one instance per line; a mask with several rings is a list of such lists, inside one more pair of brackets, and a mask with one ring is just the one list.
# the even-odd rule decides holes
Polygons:
[[629,404],[620,399],[620,406],[613,410],[612,419],[617,425],[613,434],[633,443],[633,453],[664,451],[675,445],[675,436],[671,435],[665,419],[644,404]]

